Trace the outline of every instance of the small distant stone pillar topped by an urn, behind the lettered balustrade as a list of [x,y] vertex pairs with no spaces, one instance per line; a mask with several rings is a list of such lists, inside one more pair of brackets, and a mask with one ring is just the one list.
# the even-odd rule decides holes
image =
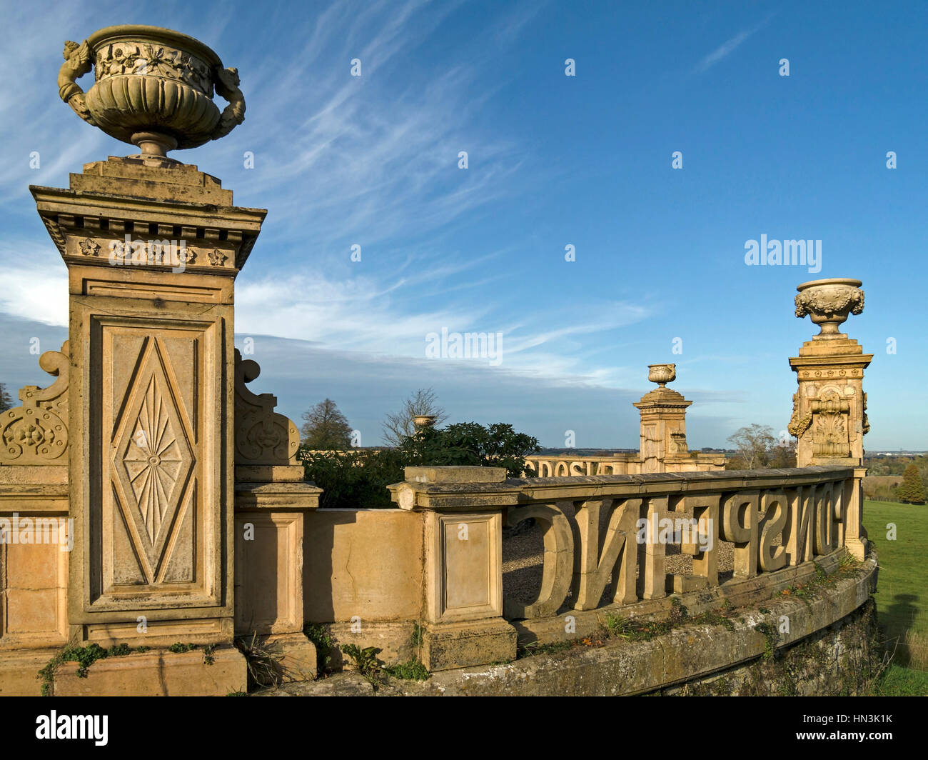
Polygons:
[[692,401],[666,387],[677,379],[676,364],[650,364],[648,379],[658,387],[634,404],[641,413],[641,472],[665,472],[665,460],[689,451],[687,407]]

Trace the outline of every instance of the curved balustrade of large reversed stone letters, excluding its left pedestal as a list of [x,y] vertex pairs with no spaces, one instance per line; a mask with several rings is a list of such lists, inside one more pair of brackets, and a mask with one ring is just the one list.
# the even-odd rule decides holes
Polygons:
[[[505,599],[505,615],[543,617],[565,603],[596,609],[716,586],[721,542],[734,544],[735,578],[845,545],[862,558],[861,476],[854,467],[818,466],[510,480],[521,489],[507,521],[540,521],[545,550],[537,598]],[[664,570],[668,545],[692,557],[690,574]]]

